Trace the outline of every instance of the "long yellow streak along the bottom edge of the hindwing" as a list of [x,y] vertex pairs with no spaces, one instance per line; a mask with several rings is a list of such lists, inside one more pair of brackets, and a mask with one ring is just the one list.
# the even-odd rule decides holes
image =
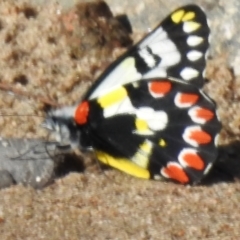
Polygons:
[[138,178],[149,179],[150,173],[147,169],[139,167],[135,163],[125,158],[114,158],[104,152],[96,151],[97,158],[102,163],[123,171]]

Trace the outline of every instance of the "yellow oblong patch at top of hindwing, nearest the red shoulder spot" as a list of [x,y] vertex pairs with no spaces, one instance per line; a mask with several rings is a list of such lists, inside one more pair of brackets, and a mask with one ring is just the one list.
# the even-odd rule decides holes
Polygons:
[[122,101],[127,96],[127,91],[124,87],[120,87],[98,98],[98,103],[102,108],[109,107],[116,102]]

